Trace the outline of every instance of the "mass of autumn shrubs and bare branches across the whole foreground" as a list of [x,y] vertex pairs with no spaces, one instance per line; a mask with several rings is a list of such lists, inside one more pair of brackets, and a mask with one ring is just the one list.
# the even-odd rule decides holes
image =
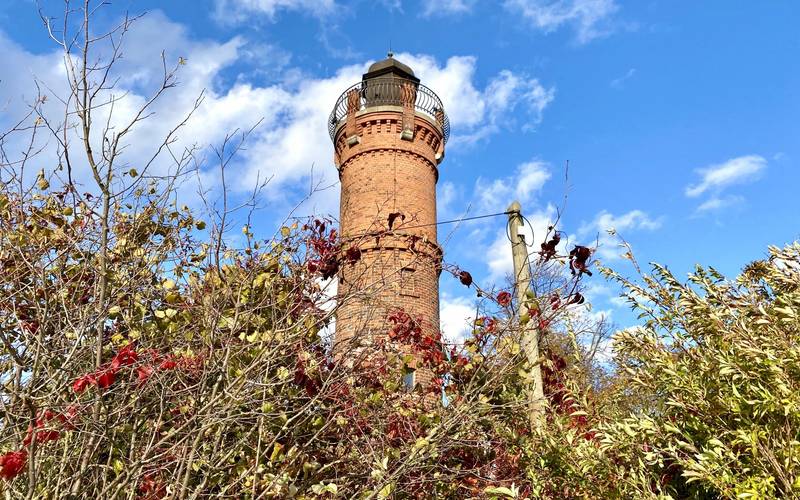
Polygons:
[[[124,99],[107,77],[131,22],[105,35],[80,22],[81,43],[63,33],[77,64],[55,99],[64,116],[51,119],[40,95],[0,134],[7,497],[800,495],[800,245],[770,248],[735,280],[698,268],[682,282],[642,271],[631,252],[634,278],[596,273],[594,249],[566,250],[550,227],[523,304],[513,283],[443,266],[442,279],[477,295],[459,342],[397,309],[374,342],[334,352],[336,308],[353,297],[331,305],[331,280],[361,253],[330,220],[287,218],[259,236],[246,222],[257,203],[232,206],[224,185],[184,206],[179,186],[201,160],[175,147],[182,124],[139,145],[152,150],[142,165],[122,154],[184,60],[164,61],[129,121],[97,119]],[[103,47],[111,59],[95,63]],[[54,151],[37,149],[40,135]],[[213,149],[221,178],[235,137]],[[27,146],[12,157],[12,143]],[[392,215],[390,227],[402,220]],[[589,322],[587,337],[576,326],[585,280],[600,274],[641,314],[603,363],[600,327]],[[541,337],[533,362],[530,329]],[[539,427],[534,363],[547,399]]]

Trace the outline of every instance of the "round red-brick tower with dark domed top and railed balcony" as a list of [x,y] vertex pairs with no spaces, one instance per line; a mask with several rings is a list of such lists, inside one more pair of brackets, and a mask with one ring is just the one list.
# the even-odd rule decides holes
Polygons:
[[396,309],[437,332],[436,182],[450,129],[441,101],[390,53],[342,94],[329,124],[341,238],[361,251],[339,272],[334,350],[387,335]]

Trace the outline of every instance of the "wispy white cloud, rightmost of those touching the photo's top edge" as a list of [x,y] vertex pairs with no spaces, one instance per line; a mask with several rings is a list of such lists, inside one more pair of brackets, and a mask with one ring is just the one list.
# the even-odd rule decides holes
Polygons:
[[579,43],[607,34],[601,24],[619,8],[614,0],[506,0],[504,5],[545,33],[572,25]]

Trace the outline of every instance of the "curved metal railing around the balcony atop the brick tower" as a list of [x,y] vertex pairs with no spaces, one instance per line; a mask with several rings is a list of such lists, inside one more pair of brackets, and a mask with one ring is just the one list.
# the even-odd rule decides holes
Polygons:
[[348,112],[358,112],[374,106],[411,106],[436,120],[442,127],[444,142],[450,137],[450,119],[444,112],[442,100],[431,89],[420,83],[401,78],[373,78],[348,88],[331,111],[328,132],[335,140],[336,129]]

